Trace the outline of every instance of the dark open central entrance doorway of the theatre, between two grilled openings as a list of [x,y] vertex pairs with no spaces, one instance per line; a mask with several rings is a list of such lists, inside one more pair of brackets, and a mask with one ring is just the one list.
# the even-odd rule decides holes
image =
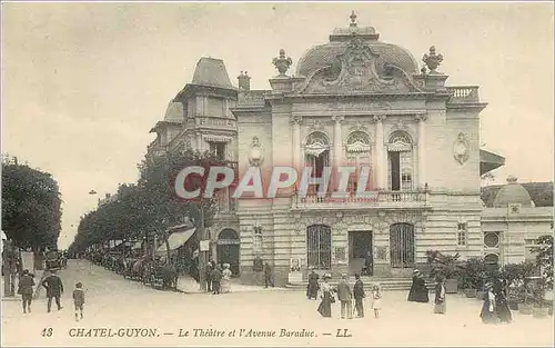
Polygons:
[[374,274],[372,231],[349,232],[349,271],[361,276]]

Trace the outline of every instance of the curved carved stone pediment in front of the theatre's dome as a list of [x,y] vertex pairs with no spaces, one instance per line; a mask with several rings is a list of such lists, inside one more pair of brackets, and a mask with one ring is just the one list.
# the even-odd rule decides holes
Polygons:
[[312,93],[407,93],[422,92],[402,69],[386,64],[386,76],[376,69],[379,53],[362,38],[355,37],[345,46],[331,66],[316,70],[297,91]]

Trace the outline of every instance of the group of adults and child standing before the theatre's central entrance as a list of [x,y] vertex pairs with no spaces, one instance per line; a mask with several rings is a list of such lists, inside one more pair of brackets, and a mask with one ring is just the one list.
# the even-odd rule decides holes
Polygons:
[[[332,317],[332,304],[335,304],[335,295],[341,304],[341,318],[352,319],[354,311],[356,311],[357,318],[364,318],[364,298],[366,294],[364,291],[364,282],[360,275],[355,275],[355,284],[353,289],[347,282],[347,275],[343,274],[341,281],[337,284],[336,288],[332,288],[330,285],[330,279],[332,276],[325,274],[322,277],[322,282],[319,282],[320,276],[311,269],[309,275],[309,285],[306,288],[307,299],[317,299],[320,296],[321,302],[317,307],[317,311],[324,318]],[[354,299],[354,310],[353,310],[353,299]],[[372,288],[372,308],[374,309],[374,317],[379,318],[381,305],[382,291],[380,285],[374,285]]]

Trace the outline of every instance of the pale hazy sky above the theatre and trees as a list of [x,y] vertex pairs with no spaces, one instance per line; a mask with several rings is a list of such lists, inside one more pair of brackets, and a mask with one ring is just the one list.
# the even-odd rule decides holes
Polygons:
[[448,86],[481,87],[481,142],[506,158],[496,183],[553,180],[552,3],[4,2],[2,152],[58,180],[65,248],[98,198],[137,181],[149,130],[201,57],[270,89],[280,49],[294,71],[352,10],[418,63],[435,46]]

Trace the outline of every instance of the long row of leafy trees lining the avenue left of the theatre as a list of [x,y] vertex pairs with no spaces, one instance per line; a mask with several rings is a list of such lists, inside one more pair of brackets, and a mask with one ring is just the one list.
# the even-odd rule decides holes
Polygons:
[[190,217],[196,221],[199,235],[202,235],[204,227],[211,226],[215,213],[213,198],[183,200],[178,197],[175,177],[190,166],[203,167],[205,175],[190,176],[193,178],[186,182],[188,190],[202,190],[209,169],[212,166],[226,166],[226,162],[209,152],[193,151],[170,152],[152,160],[143,160],[138,166],[140,177],[137,185],[120,186],[115,201],[99,207],[81,220],[71,250],[84,250],[90,245],[113,237],[134,239],[161,233],[170,261],[171,250],[165,230],[181,222],[184,217]]

